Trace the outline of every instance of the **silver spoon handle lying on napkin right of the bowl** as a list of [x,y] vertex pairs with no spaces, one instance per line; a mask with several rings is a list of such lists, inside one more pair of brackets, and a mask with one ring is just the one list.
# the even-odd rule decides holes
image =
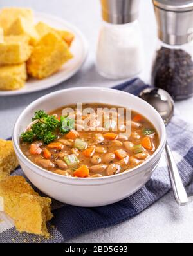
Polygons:
[[183,186],[181,176],[179,175],[178,167],[176,165],[174,156],[172,155],[172,151],[168,143],[165,145],[165,150],[167,153],[167,162],[169,165],[170,179],[174,191],[174,196],[176,198],[176,202],[178,202],[180,206],[185,206],[188,203],[187,192],[185,191],[185,187]]

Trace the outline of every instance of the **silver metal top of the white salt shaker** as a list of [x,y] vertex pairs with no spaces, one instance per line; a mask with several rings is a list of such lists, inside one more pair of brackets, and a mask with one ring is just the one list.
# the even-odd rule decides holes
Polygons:
[[113,24],[130,23],[138,19],[140,0],[100,0],[104,21]]

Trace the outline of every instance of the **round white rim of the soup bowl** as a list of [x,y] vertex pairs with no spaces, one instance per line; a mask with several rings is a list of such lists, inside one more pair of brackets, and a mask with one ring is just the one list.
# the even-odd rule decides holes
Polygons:
[[[113,92],[113,91],[114,92],[119,92],[120,94],[125,94],[128,97],[135,98],[137,100],[143,101],[143,104],[146,104],[146,105],[148,105],[148,107],[151,108],[151,110],[154,112],[154,114],[156,114],[158,116],[158,119],[160,120],[160,127],[161,127],[161,133],[162,133],[162,137],[160,138],[160,145],[158,146],[158,148],[156,149],[156,151],[154,152],[154,154],[152,156],[150,156],[142,164],[140,164],[140,165],[138,165],[138,166],[136,166],[136,167],[134,167],[132,169],[128,169],[127,171],[124,171],[123,173],[118,173],[116,175],[111,175],[111,176],[103,176],[103,177],[100,177],[100,178],[75,178],[75,177],[71,177],[71,176],[62,176],[62,175],[58,175],[57,173],[52,173],[51,171],[48,171],[48,170],[40,167],[39,165],[34,164],[32,161],[30,161],[30,159],[28,159],[24,155],[24,153],[20,149],[19,143],[17,142],[18,136],[17,136],[17,132],[16,132],[17,131],[17,127],[19,126],[19,123],[20,123],[20,121],[23,118],[23,115],[26,112],[28,112],[28,110],[31,109],[33,106],[35,107],[35,105],[37,105],[37,103],[39,103],[42,100],[46,100],[47,98],[53,98],[53,97],[57,96],[60,93],[65,93],[65,92],[70,92],[70,91],[77,91],[77,90],[84,91],[84,90],[88,90],[88,89],[91,89],[91,90],[105,90],[107,92],[108,91],[109,92]],[[128,175],[128,173],[129,174],[133,174],[136,170],[143,169],[143,167],[145,167],[145,165],[148,165],[149,162],[154,160],[154,158],[156,158],[156,156],[158,156],[159,153],[163,151],[163,149],[165,147],[165,144],[166,144],[166,129],[165,129],[165,124],[164,124],[160,114],[156,111],[156,109],[154,109],[149,103],[147,103],[146,101],[142,100],[138,96],[135,96],[135,95],[133,95],[133,94],[131,94],[129,92],[119,91],[117,89],[106,88],[106,87],[72,87],[72,88],[68,88],[68,89],[62,89],[62,90],[59,90],[59,91],[51,92],[49,94],[46,94],[46,95],[38,98],[35,101],[32,101],[32,103],[30,103],[21,112],[21,114],[19,114],[19,116],[18,116],[18,118],[17,118],[17,120],[15,122],[15,125],[14,125],[14,129],[13,129],[13,133],[12,133],[12,140],[13,140],[13,143],[14,143],[15,151],[19,155],[18,157],[22,159],[21,160],[22,162],[24,160],[24,162],[25,162],[24,165],[29,165],[30,166],[30,170],[31,171],[37,173],[37,171],[35,171],[35,169],[38,169],[39,170],[39,172],[37,173],[38,175],[41,175],[44,178],[49,178],[50,180],[55,180],[57,182],[64,183],[64,184],[66,184],[67,181],[68,181],[68,183],[70,183],[70,181],[73,183],[73,182],[76,182],[77,180],[78,181],[80,181],[80,180],[83,181],[84,180],[84,181],[86,181],[88,183],[89,183],[89,181],[90,182],[92,181],[92,182],[95,183],[95,182],[98,182],[98,180],[99,181],[100,180],[110,181],[112,179],[115,179],[115,178],[118,178],[118,177],[121,177],[121,176],[124,176],[124,175]],[[138,172],[136,172],[136,173],[138,173]],[[50,176],[52,176],[52,178],[50,178]],[[60,178],[62,180],[60,180]]]

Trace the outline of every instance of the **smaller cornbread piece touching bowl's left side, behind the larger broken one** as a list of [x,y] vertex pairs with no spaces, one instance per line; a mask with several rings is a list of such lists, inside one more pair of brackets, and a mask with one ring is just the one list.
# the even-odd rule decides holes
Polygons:
[[12,141],[0,140],[0,180],[9,176],[18,165]]

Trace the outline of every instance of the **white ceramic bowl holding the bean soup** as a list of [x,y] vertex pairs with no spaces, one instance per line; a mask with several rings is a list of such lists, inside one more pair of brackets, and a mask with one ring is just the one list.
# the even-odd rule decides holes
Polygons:
[[[19,137],[35,111],[53,111],[73,103],[107,103],[133,109],[154,123],[160,145],[154,155],[132,170],[102,178],[73,178],[57,175],[33,164],[19,147]],[[19,163],[35,187],[49,197],[74,206],[105,206],[118,202],[138,191],[151,178],[165,147],[166,132],[160,114],[148,103],[127,92],[98,87],[79,87],[53,92],[31,103],[21,113],[13,131],[14,148]]]

